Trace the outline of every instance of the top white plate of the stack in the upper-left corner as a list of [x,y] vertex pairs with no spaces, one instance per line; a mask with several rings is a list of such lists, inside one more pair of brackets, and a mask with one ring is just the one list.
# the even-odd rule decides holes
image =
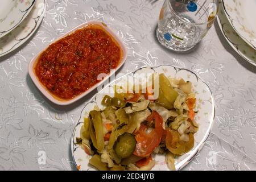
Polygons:
[[1,0],[0,38],[11,32],[30,13],[35,0]]

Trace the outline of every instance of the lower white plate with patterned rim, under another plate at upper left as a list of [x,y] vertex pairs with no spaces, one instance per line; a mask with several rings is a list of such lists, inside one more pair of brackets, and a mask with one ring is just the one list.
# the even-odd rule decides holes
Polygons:
[[36,0],[30,14],[9,34],[0,38],[0,57],[25,43],[38,29],[46,10],[46,0]]

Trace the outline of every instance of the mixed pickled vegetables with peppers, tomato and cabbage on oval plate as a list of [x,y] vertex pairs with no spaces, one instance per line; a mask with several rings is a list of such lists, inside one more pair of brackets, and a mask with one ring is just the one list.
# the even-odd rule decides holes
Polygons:
[[175,157],[192,150],[199,129],[192,83],[160,74],[158,98],[148,96],[116,92],[102,99],[104,110],[89,112],[77,144],[92,155],[90,165],[110,171],[150,170],[157,154],[165,155],[174,170]]

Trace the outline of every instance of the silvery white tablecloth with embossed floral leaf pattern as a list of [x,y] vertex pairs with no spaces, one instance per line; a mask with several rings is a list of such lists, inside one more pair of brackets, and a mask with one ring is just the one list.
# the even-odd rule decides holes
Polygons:
[[[0,58],[0,169],[75,169],[70,140],[84,103],[53,105],[28,76],[29,61],[54,39],[89,20],[112,27],[128,48],[118,73],[145,65],[191,69],[212,89],[216,117],[207,143],[184,168],[256,170],[256,68],[225,42],[217,24],[190,53],[159,45],[155,28],[163,1],[48,0],[46,16],[34,36]],[[95,92],[94,92],[95,93]],[[42,163],[40,156],[46,155]]]

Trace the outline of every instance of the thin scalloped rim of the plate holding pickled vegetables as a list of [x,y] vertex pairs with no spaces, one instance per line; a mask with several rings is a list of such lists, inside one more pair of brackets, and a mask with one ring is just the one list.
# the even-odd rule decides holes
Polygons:
[[[180,166],[179,168],[176,168],[176,171],[180,171],[183,167],[187,166],[187,164],[188,164],[189,162],[191,162],[191,160],[201,151],[201,149],[204,147],[205,142],[207,141],[207,139],[209,138],[210,134],[212,133],[211,131],[212,131],[212,128],[213,128],[213,124],[214,124],[215,117],[216,117],[216,106],[215,106],[215,101],[214,101],[213,92],[212,92],[212,90],[210,89],[210,86],[209,86],[200,76],[198,76],[196,73],[192,72],[191,70],[189,70],[189,69],[187,69],[187,68],[181,68],[181,67],[177,67],[177,66],[169,65],[169,64],[161,64],[161,65],[156,65],[156,66],[144,66],[144,67],[141,67],[141,68],[136,69],[135,71],[126,73],[125,75],[116,78],[114,81],[112,81],[112,82],[110,82],[109,84],[107,84],[106,86],[104,86],[104,88],[102,88],[101,90],[103,90],[103,89],[107,88],[108,86],[112,85],[115,81],[121,79],[122,77],[125,77],[125,76],[127,76],[127,75],[133,74],[133,73],[135,73],[135,72],[137,72],[137,71],[139,71],[139,70],[141,70],[141,69],[146,69],[146,68],[152,69],[152,68],[159,68],[159,67],[162,67],[162,66],[172,67],[172,68],[174,68],[176,71],[177,71],[177,69],[179,69],[179,70],[185,70],[185,71],[191,72],[193,75],[196,76],[197,81],[200,80],[200,81],[202,81],[202,82],[207,86],[207,88],[209,89],[211,98],[212,98],[212,106],[213,106],[212,112],[213,112],[213,117],[212,117],[212,119],[211,119],[211,121],[210,121],[210,125],[209,125],[209,127],[208,127],[208,129],[207,129],[207,132],[205,133],[203,140],[200,141],[201,144],[199,145],[199,147],[197,148],[197,150],[195,150],[195,152],[194,152],[191,156],[189,156],[189,158],[188,158],[183,164],[181,164],[181,166]],[[78,148],[78,146],[77,146],[76,148],[74,148],[74,146],[76,145],[76,144],[75,144],[75,141],[74,141],[76,127],[77,127],[78,125],[80,125],[80,123],[81,123],[81,122],[79,122],[79,121],[80,121],[80,119],[82,118],[82,111],[85,109],[85,107],[86,107],[88,104],[90,104],[90,103],[94,100],[94,98],[96,98],[96,96],[101,92],[101,90],[98,91],[96,94],[94,94],[94,96],[93,96],[88,102],[85,102],[85,106],[82,107],[82,109],[81,109],[80,117],[79,117],[78,121],[76,122],[76,124],[75,124],[75,126],[74,126],[74,128],[73,128],[72,137],[71,137],[71,143],[70,143],[70,145],[71,145],[71,148],[70,148],[70,149],[71,149],[72,159],[73,159],[73,162],[75,163],[76,168],[78,167],[78,165],[77,165],[77,163],[76,163],[76,160],[75,160],[75,156],[74,156],[74,151],[76,150],[76,148]]]

